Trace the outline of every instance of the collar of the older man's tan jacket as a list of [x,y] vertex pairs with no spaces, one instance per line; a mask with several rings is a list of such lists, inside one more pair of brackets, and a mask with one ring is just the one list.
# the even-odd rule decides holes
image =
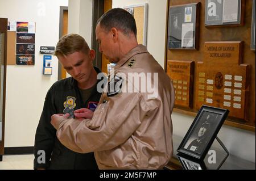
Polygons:
[[148,53],[147,48],[142,44],[139,44],[131,49],[130,52],[128,52],[121,60],[119,60],[117,65],[115,65],[115,69],[121,68],[121,66],[123,66],[131,57],[139,53]]

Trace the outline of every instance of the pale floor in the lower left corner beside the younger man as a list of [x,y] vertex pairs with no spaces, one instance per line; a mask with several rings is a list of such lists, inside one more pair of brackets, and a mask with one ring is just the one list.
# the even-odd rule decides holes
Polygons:
[[33,154],[3,155],[0,170],[33,170]]

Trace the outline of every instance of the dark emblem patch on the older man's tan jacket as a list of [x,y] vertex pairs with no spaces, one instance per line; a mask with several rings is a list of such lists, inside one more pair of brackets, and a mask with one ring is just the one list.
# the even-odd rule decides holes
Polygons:
[[122,77],[118,77],[117,75],[115,75],[115,77],[108,82],[108,97],[117,95],[119,92],[121,92],[122,82]]

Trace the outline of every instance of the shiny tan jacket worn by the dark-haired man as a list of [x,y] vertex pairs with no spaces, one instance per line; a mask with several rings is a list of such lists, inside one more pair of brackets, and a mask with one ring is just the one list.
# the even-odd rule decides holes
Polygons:
[[162,169],[173,153],[172,82],[143,45],[132,49],[114,68],[115,73],[125,75],[152,73],[151,84],[147,82],[151,87],[153,73],[158,73],[154,88],[158,95],[149,99],[148,91],[114,96],[103,92],[92,120],[60,119],[53,125],[57,137],[73,151],[94,151],[100,169]]

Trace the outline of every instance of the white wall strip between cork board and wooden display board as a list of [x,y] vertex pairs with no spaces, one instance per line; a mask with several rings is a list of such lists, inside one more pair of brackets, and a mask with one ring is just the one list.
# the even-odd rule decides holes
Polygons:
[[167,0],[113,0],[112,7],[148,3],[147,50],[164,68]]

